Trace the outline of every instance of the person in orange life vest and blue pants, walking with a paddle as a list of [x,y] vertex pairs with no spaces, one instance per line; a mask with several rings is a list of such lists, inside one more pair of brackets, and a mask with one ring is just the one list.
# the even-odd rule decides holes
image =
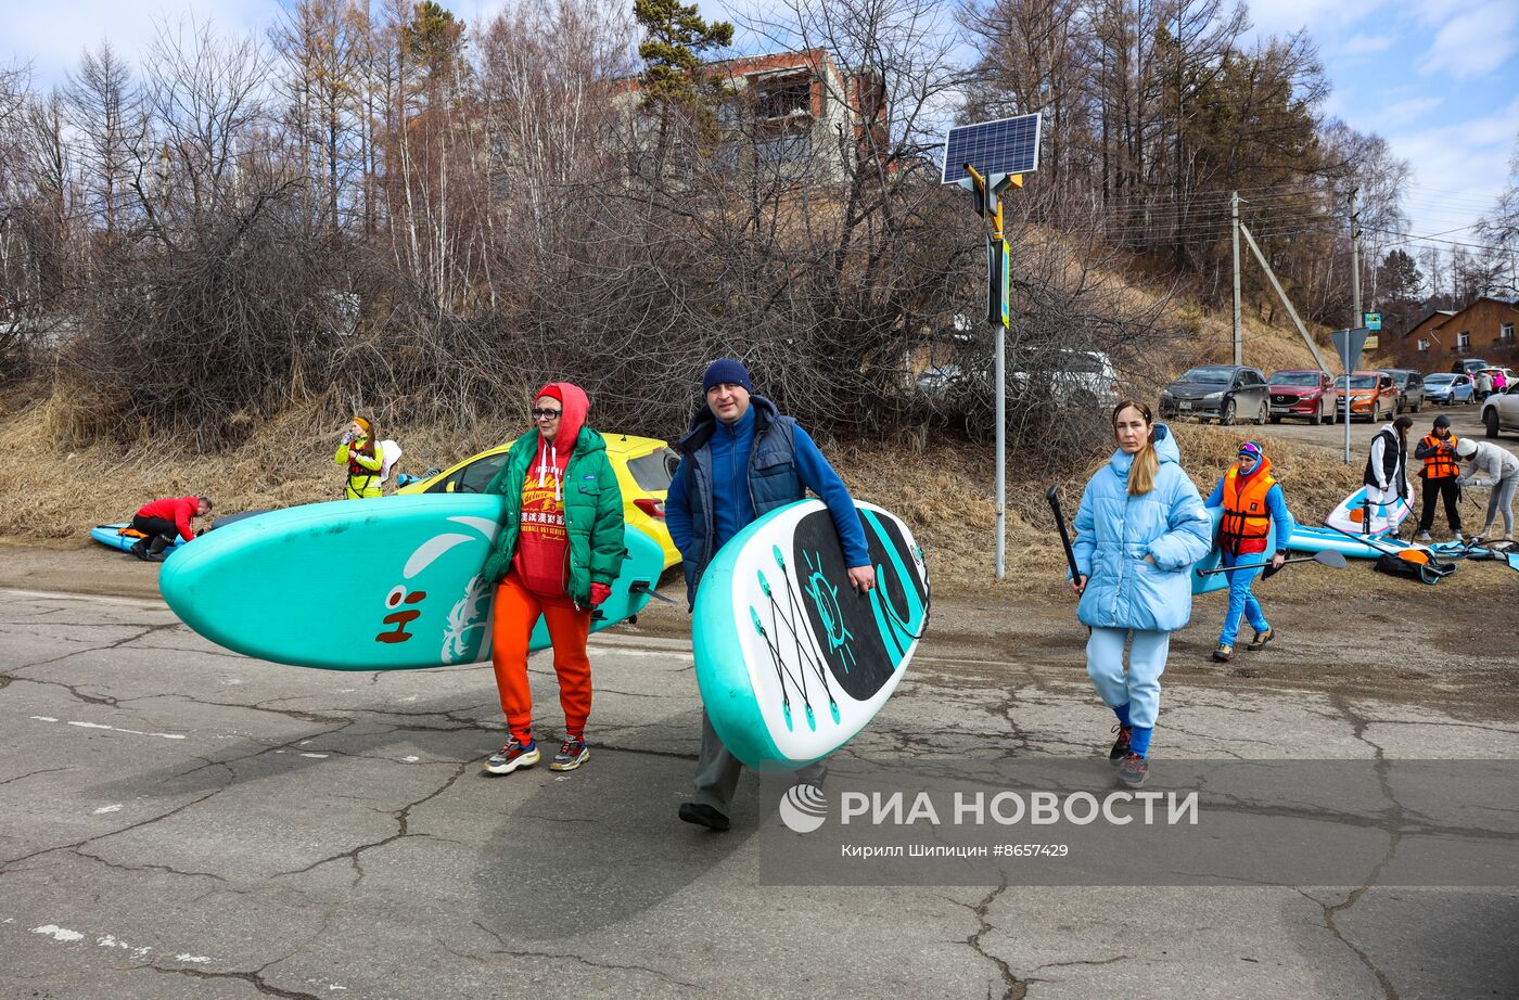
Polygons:
[[[1270,561],[1281,568],[1287,560],[1282,548],[1293,534],[1293,514],[1287,510],[1282,487],[1271,475],[1271,460],[1258,442],[1240,445],[1240,461],[1214,487],[1208,507],[1223,507],[1218,522],[1218,561],[1221,566],[1241,566]],[[1276,522],[1277,549],[1267,554],[1265,545]],[[1246,649],[1264,649],[1276,639],[1276,630],[1265,621],[1261,602],[1250,593],[1250,583],[1264,568],[1235,569],[1224,574],[1229,578],[1229,610],[1224,627],[1218,633],[1218,648],[1214,659],[1227,663],[1233,659],[1235,637],[1240,634],[1240,619],[1249,618],[1255,628],[1255,640]]]

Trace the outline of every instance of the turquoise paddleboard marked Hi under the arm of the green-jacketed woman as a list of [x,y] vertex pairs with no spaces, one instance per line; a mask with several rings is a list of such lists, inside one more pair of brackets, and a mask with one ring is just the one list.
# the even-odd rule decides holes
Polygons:
[[[491,657],[494,587],[480,569],[504,501],[390,496],[276,510],[217,528],[164,563],[158,587],[190,628],[261,660],[404,671]],[[627,528],[598,631],[636,615],[664,551]],[[539,619],[532,648],[548,646]]]

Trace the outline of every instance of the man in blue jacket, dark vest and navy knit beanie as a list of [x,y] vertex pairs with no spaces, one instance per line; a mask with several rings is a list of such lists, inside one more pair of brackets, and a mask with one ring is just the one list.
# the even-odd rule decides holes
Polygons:
[[[870,590],[875,569],[860,514],[843,480],[807,431],[773,402],[752,395],[747,369],[731,358],[706,367],[702,392],[705,405],[676,442],[681,466],[665,496],[665,524],[681,549],[691,607],[717,551],[752,520],[802,499],[807,490],[822,498],[834,516],[849,583],[860,592]],[[681,804],[681,819],[726,830],[741,769],[703,712],[696,795]]]

